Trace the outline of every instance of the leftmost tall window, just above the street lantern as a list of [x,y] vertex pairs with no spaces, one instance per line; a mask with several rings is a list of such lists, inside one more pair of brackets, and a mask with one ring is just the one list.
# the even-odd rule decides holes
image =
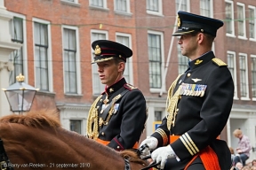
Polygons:
[[[23,19],[14,17],[11,19],[11,34],[12,42],[17,42],[23,44]],[[20,50],[14,50],[9,56],[9,61],[13,63],[14,69],[10,72],[9,83],[13,84],[16,82],[16,76],[20,73],[24,75],[23,66],[23,47]]]

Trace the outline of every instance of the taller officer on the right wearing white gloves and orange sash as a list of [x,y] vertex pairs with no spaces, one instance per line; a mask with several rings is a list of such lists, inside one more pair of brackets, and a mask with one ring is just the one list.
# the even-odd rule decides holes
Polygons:
[[[212,52],[218,19],[178,12],[181,53],[189,58],[188,70],[168,91],[168,115],[140,146],[148,144],[151,157],[162,168],[180,170],[228,170],[228,145],[219,139],[231,111],[234,82],[227,65]],[[144,155],[148,150],[143,152]]]

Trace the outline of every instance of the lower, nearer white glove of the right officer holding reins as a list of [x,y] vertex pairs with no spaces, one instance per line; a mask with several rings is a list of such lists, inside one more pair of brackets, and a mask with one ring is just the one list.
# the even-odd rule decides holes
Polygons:
[[151,158],[156,161],[156,163],[161,162],[160,169],[164,169],[164,165],[167,161],[167,158],[176,157],[175,152],[172,150],[170,144],[164,147],[157,148],[151,153]]

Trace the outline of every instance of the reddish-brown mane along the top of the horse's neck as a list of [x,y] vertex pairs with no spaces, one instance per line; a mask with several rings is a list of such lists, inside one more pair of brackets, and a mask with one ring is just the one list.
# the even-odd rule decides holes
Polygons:
[[59,128],[59,114],[56,111],[50,112],[28,112],[26,114],[11,114],[0,119],[1,123],[18,123],[28,127],[52,127]]

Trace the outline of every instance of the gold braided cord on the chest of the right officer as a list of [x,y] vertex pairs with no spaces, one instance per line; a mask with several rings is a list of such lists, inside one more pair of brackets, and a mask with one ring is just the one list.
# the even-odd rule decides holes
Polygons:
[[[168,112],[167,128],[169,130],[171,130],[171,127],[172,127],[172,119],[174,117],[174,112],[177,112],[176,110],[177,110],[177,105],[179,101],[181,86],[179,87],[179,89],[177,89],[174,95],[173,95],[173,90],[175,89],[175,86],[177,84],[177,81],[180,79],[180,76],[181,74],[178,75],[176,80],[172,82],[171,87],[168,89],[167,100],[166,100],[166,111]],[[175,117],[174,117],[174,121],[175,121]]]

